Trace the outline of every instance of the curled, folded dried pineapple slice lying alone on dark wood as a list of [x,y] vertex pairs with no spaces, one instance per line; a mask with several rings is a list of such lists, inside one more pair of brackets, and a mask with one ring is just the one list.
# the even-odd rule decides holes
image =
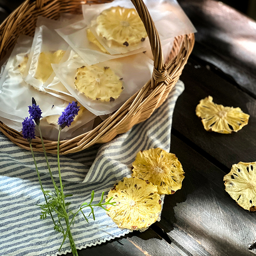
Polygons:
[[248,124],[249,115],[241,108],[224,107],[212,102],[208,96],[196,106],[196,116],[202,119],[204,129],[219,133],[237,132]]

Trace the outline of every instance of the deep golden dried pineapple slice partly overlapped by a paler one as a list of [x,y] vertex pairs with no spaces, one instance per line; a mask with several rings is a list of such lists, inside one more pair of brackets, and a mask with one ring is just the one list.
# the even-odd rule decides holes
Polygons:
[[161,148],[138,152],[132,166],[132,177],[148,180],[156,185],[160,195],[173,194],[181,188],[181,182],[185,178],[178,158]]

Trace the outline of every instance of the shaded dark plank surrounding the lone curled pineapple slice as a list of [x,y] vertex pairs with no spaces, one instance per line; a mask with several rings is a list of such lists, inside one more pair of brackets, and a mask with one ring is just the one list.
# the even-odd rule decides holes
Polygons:
[[[173,132],[177,131],[184,136],[182,140],[188,140],[190,146],[193,147],[194,144],[201,148],[226,166],[224,171],[229,172],[232,164],[256,160],[256,100],[201,65],[190,58],[180,77],[185,84],[185,91],[176,102],[172,120]],[[250,115],[248,125],[232,134],[205,131],[195,109],[199,100],[208,95],[217,104],[240,107]]]

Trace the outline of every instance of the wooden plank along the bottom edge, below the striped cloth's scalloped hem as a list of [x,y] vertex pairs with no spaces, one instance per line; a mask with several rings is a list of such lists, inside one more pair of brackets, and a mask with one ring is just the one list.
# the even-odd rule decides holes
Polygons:
[[[125,237],[79,250],[79,256],[188,256],[175,245],[168,244],[155,231],[148,228],[144,232],[133,231]],[[67,253],[72,256],[72,253]]]

